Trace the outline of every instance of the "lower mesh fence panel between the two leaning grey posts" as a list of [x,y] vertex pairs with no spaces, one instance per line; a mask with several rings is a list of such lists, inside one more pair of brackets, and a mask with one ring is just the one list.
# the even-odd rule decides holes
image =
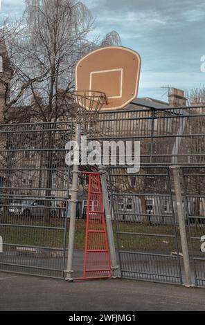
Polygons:
[[181,283],[169,169],[142,168],[129,175],[112,168],[109,178],[122,276]]

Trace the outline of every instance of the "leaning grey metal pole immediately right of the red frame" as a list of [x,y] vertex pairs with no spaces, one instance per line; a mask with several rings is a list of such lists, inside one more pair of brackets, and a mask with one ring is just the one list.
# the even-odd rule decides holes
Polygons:
[[119,267],[118,267],[117,259],[116,259],[114,234],[113,234],[113,228],[112,228],[112,218],[111,218],[111,212],[110,212],[110,208],[109,208],[109,197],[108,197],[107,181],[106,181],[106,169],[104,166],[99,166],[99,170],[100,170],[100,180],[101,180],[101,187],[102,187],[102,193],[103,193],[103,203],[104,203],[104,209],[105,209],[105,219],[106,219],[106,224],[107,224],[107,239],[108,239],[108,244],[109,244],[112,277],[116,278],[116,277],[120,277],[120,273],[119,273]]

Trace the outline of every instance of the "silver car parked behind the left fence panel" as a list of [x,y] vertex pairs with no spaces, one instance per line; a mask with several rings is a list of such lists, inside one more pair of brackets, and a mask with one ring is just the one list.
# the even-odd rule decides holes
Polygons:
[[[46,201],[40,199],[24,199],[19,202],[10,203],[8,205],[8,213],[21,216],[44,216],[45,208],[49,209],[50,216],[57,216],[57,208],[55,207],[55,201],[50,201],[50,207],[45,207]],[[1,207],[1,212],[3,207]]]

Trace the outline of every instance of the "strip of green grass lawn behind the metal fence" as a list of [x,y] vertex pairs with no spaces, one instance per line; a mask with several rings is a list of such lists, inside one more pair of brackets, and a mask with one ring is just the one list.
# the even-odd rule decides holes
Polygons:
[[[66,232],[64,230],[65,223]],[[177,250],[175,237],[172,238],[168,236],[175,235],[175,228],[173,225],[145,225],[143,223],[126,223],[122,221],[118,222],[117,224],[118,232],[126,232],[126,234],[118,234],[118,239],[120,239],[120,250],[160,252],[164,254],[170,254],[171,252],[176,252]],[[36,228],[33,228],[32,226]],[[47,227],[47,229],[45,227]],[[131,234],[132,232],[137,233],[137,235]],[[152,236],[152,234],[161,234],[164,236]],[[193,227],[193,234],[197,234],[197,236],[198,234],[205,234],[205,227]],[[63,248],[64,236],[66,236],[66,245],[68,244],[69,220],[65,220],[64,218],[56,218],[46,222],[43,218],[20,219],[19,217],[10,216],[7,220],[7,225],[0,225],[0,236],[3,237],[3,242],[8,244]],[[114,237],[116,241],[116,233],[114,234]],[[178,226],[177,237],[179,252],[181,252]],[[85,221],[77,219],[75,224],[75,249],[84,249],[84,239]],[[195,251],[199,256],[201,256],[200,245],[201,242],[199,240],[194,242]],[[188,246],[190,249],[189,236]],[[12,248],[12,246],[4,246],[4,250],[6,249],[16,249],[16,247],[13,246]]]

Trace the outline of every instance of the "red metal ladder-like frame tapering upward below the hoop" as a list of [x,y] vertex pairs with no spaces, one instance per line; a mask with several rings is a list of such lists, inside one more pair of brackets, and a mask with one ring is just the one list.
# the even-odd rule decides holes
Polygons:
[[111,277],[100,173],[89,173],[84,267],[81,279]]

